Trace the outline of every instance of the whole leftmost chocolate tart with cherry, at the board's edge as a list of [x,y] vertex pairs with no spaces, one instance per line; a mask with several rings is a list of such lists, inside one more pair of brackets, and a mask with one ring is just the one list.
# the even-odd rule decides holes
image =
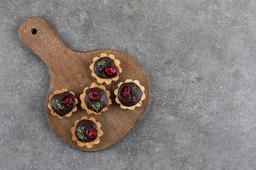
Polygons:
[[68,92],[65,88],[61,91],[54,91],[53,95],[50,95],[49,101],[47,106],[52,115],[57,115],[59,118],[70,117],[72,112],[77,110],[76,104],[78,100],[74,97],[72,91]]

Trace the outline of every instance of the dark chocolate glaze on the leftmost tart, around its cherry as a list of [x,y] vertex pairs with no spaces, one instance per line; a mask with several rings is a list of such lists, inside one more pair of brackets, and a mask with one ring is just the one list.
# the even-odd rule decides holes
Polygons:
[[[67,96],[71,96],[73,98],[73,103],[71,106],[67,107],[65,106],[63,103],[62,103],[62,100],[65,99]],[[60,116],[64,116],[66,115],[67,113],[69,113],[73,108],[74,106],[76,105],[76,102],[75,102],[75,97],[74,95],[72,95],[71,93],[69,92],[64,92],[64,93],[61,93],[61,94],[57,94],[57,95],[54,95],[51,99],[51,105],[52,105],[52,108],[53,110]]]

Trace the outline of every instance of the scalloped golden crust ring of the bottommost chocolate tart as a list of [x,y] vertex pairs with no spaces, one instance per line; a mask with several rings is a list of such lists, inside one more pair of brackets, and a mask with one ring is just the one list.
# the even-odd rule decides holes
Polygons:
[[[94,141],[90,141],[90,142],[81,142],[79,141],[77,138],[76,138],[76,126],[77,124],[79,123],[79,121],[81,120],[90,120],[90,121],[93,121],[93,123],[97,126],[97,138],[94,140]],[[96,145],[96,144],[99,144],[99,137],[101,137],[103,135],[103,131],[101,130],[101,124],[99,122],[97,122],[95,120],[94,117],[82,117],[81,120],[76,120],[74,122],[74,126],[71,128],[71,132],[72,132],[72,140],[76,141],[77,142],[77,145],[80,146],[80,147],[84,147],[86,146],[87,148],[92,148],[93,145]]]

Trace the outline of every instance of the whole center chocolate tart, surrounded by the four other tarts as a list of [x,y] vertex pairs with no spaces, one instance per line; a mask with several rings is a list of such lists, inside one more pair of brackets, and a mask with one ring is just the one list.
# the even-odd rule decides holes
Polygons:
[[80,95],[81,107],[87,111],[88,114],[99,115],[101,112],[108,110],[111,99],[110,92],[106,90],[105,86],[98,86],[92,83],[90,88],[86,87]]

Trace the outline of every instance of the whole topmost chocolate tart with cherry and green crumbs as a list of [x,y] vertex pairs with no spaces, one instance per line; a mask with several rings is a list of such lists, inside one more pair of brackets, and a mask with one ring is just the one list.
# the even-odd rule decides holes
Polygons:
[[110,84],[112,81],[117,81],[119,73],[122,72],[119,66],[120,61],[115,59],[115,56],[106,53],[101,53],[100,57],[94,57],[93,63],[90,65],[92,76],[97,79],[97,82],[102,84]]

